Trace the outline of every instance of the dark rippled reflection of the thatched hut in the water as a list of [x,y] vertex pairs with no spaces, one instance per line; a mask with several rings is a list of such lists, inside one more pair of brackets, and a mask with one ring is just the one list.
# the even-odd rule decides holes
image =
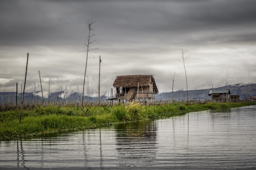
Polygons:
[[115,129],[120,167],[143,167],[156,158],[156,121],[119,124]]

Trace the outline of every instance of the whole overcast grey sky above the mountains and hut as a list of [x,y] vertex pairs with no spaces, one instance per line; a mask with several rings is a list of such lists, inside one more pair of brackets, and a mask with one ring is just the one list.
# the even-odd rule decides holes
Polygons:
[[[153,74],[159,92],[256,83],[255,0],[1,0],[0,92],[83,90],[101,94],[115,76]],[[88,78],[88,81],[87,81]],[[86,90],[86,87],[85,87]]]

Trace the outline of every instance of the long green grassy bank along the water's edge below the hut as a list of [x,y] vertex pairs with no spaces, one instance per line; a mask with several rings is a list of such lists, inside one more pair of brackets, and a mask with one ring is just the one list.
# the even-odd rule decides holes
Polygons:
[[28,107],[22,111],[21,123],[19,123],[20,110],[0,112],[0,140],[54,132],[84,130],[103,124],[168,118],[193,111],[229,109],[231,107],[247,105],[256,105],[256,102],[206,103],[195,105],[173,103],[148,107],[139,105],[138,103],[131,103],[127,106],[84,107],[83,109],[89,116],[79,107],[60,107],[56,105]]

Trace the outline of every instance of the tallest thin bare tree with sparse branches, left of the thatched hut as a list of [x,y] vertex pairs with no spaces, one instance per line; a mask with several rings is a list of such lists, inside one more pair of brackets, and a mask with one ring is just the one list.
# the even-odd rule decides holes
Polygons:
[[[86,37],[86,43],[84,44],[83,48],[84,48],[84,53],[86,54],[86,63],[85,63],[85,74],[84,74],[84,79],[83,79],[83,95],[84,95],[84,86],[85,86],[85,75],[86,75],[86,69],[87,69],[87,61],[88,61],[88,54],[89,52],[92,54],[92,50],[97,50],[99,49],[99,47],[96,48],[92,48],[92,44],[94,42],[97,42],[96,39],[92,39],[92,37],[94,36],[94,34],[91,34],[91,31],[93,31],[95,29],[95,21],[94,20],[89,20],[88,22],[86,22],[87,27],[88,27],[88,31],[89,34],[88,36],[85,35]],[[92,55],[93,56],[93,55]],[[82,105],[81,107],[83,107],[83,96],[82,96]]]

